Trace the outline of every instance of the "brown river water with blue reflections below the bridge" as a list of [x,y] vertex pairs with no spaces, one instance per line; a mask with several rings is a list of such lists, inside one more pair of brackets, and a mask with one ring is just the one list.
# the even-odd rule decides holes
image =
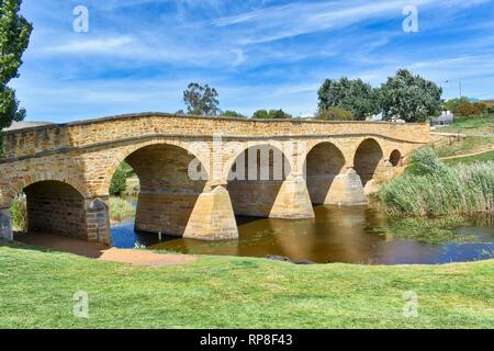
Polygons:
[[135,234],[132,220],[113,227],[113,239],[121,248],[133,248],[139,242],[153,250],[243,257],[277,254],[317,263],[447,263],[490,258],[494,250],[493,220],[472,218],[456,229],[459,235],[473,236],[473,241],[428,244],[375,234],[390,219],[368,206],[317,206],[314,211],[314,219],[239,217],[238,240],[210,242],[164,237],[159,242],[157,235]]

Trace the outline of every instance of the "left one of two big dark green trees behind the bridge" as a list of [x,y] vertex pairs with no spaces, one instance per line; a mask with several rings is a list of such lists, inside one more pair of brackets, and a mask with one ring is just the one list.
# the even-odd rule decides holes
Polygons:
[[378,92],[361,79],[326,79],[317,94],[319,112],[340,107],[350,111],[356,120],[363,121],[379,110]]

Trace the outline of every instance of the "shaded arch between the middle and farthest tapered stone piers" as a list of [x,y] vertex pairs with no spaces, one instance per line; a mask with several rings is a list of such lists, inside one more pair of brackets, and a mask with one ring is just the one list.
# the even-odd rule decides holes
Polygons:
[[304,171],[313,204],[330,202],[332,185],[345,165],[344,152],[332,141],[321,141],[307,151]]

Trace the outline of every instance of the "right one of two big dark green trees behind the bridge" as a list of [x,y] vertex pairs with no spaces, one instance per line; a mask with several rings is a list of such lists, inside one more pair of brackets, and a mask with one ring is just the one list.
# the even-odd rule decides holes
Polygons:
[[380,99],[385,120],[400,116],[406,122],[424,122],[440,114],[442,89],[420,76],[400,69],[381,86]]

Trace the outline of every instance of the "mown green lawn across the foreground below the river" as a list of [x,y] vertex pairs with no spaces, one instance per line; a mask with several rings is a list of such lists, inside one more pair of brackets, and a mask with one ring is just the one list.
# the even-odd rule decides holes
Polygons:
[[[292,265],[203,257],[139,268],[0,246],[0,328],[494,328],[494,260]],[[72,317],[87,291],[89,319]],[[419,317],[403,317],[415,291]]]

